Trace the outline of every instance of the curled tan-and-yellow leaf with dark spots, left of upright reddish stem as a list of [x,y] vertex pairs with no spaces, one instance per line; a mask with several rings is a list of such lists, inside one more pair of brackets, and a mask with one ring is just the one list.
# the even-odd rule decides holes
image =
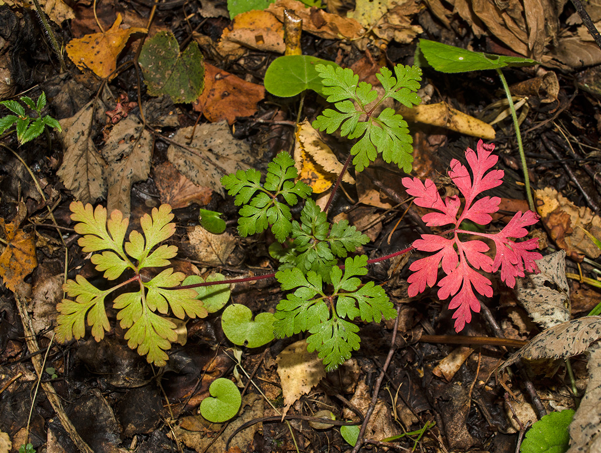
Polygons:
[[[297,127],[294,161],[299,178],[309,184],[315,193],[328,190],[344,166],[307,120],[299,123]],[[349,172],[345,172],[343,181],[355,184]]]

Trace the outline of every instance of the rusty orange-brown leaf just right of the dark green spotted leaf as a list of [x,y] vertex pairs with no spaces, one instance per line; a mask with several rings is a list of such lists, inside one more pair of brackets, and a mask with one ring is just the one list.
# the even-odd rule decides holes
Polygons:
[[192,103],[211,123],[236,117],[250,117],[257,112],[257,103],[265,97],[263,85],[252,84],[212,64],[204,64],[204,90]]

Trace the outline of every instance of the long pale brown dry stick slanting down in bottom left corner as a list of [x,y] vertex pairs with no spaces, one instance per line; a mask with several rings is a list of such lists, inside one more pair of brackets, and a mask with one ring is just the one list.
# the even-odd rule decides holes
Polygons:
[[[21,316],[21,323],[23,324],[23,331],[25,332],[25,341],[27,342],[27,347],[30,352],[36,353],[40,350],[40,347],[37,339],[35,339],[34,326],[31,322],[31,317],[29,317],[29,313],[27,312],[27,302],[25,297],[21,296],[19,293],[14,293],[14,299],[17,302],[17,309],[19,310],[19,314]],[[32,356],[31,362],[34,364],[35,372],[41,376],[43,369],[40,355],[35,354]],[[73,440],[73,443],[75,443],[75,446],[84,453],[94,453],[94,450],[91,449],[87,443],[85,443],[84,439],[82,439],[81,436],[79,436],[79,433],[75,430],[75,427],[65,413],[63,404],[58,398],[58,395],[56,395],[56,391],[52,384],[49,382],[42,382],[41,388],[44,389],[44,392],[46,392],[46,398],[48,398],[48,401],[50,401],[52,409],[54,409],[54,412],[56,412],[56,415],[58,415],[58,419],[61,421],[61,424],[63,424],[63,428],[65,428],[65,431],[67,431],[67,434],[69,434],[69,437],[71,440]]]

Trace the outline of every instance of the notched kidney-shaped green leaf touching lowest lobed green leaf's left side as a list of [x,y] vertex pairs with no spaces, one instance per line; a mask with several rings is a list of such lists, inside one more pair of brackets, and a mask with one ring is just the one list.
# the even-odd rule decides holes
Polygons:
[[259,313],[252,320],[251,310],[234,303],[224,310],[221,328],[233,344],[257,348],[269,343],[273,336],[273,313]]

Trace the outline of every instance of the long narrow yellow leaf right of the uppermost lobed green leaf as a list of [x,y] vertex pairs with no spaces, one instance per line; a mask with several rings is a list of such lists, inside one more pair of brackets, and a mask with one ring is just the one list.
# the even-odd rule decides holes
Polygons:
[[406,121],[413,123],[432,124],[445,127],[465,135],[471,135],[484,140],[495,138],[495,130],[490,124],[471,117],[468,114],[452,108],[446,102],[438,104],[416,105],[411,109],[401,106],[397,114],[403,115]]

